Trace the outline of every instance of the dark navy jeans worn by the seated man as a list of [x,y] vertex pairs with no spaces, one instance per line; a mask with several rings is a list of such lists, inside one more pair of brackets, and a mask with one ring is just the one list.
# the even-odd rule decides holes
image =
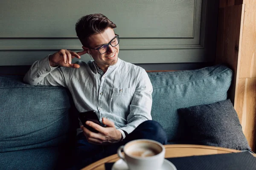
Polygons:
[[110,145],[96,145],[87,142],[83,133],[77,136],[76,148],[73,152],[72,167],[68,170],[79,170],[95,161],[116,153],[118,147],[135,139],[151,139],[161,144],[167,144],[167,136],[163,127],[156,121],[148,120],[141,123],[121,142]]

